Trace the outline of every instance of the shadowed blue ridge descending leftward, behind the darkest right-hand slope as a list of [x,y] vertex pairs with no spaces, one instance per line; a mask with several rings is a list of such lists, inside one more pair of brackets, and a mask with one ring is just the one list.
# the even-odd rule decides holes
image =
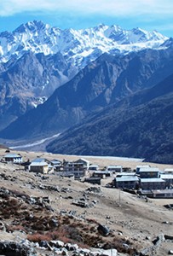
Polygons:
[[36,109],[0,132],[0,137],[51,136],[88,114],[152,87],[172,73],[173,52],[146,49],[129,55],[102,55]]

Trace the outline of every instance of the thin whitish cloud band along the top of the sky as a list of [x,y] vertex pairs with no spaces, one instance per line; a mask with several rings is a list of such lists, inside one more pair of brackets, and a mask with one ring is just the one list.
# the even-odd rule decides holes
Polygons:
[[75,12],[83,15],[173,15],[172,0],[5,0],[0,15],[22,12]]

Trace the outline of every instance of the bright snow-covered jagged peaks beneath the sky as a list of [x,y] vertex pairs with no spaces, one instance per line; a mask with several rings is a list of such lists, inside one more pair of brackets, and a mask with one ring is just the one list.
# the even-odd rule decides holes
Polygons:
[[88,29],[61,30],[33,20],[22,24],[14,32],[0,33],[0,60],[9,61],[12,56],[19,58],[26,51],[44,55],[61,52],[67,61],[84,67],[104,52],[124,54],[158,48],[167,39],[159,32],[147,32],[141,28],[124,30],[120,26],[100,24]]

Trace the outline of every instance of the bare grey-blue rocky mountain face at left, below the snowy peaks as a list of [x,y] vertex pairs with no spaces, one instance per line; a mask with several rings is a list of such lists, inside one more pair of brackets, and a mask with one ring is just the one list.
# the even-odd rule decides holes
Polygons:
[[0,68],[0,129],[43,103],[77,73],[64,57],[28,52]]

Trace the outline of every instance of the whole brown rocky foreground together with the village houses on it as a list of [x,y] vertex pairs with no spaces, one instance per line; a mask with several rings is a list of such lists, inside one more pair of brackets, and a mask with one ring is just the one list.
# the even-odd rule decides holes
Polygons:
[[171,165],[0,148],[0,177],[4,255],[173,253]]

